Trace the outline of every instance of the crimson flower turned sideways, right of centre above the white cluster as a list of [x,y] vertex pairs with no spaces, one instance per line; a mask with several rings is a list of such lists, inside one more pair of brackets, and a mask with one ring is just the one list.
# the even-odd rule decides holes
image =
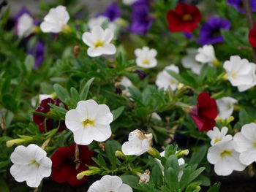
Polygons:
[[197,107],[192,107],[189,112],[200,132],[214,128],[215,118],[218,115],[217,104],[208,93],[203,92],[197,96]]

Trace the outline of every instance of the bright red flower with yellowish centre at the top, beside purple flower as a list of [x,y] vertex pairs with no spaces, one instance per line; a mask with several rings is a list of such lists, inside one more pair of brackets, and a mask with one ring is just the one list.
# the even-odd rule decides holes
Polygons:
[[200,10],[194,5],[178,4],[175,10],[167,12],[169,30],[172,32],[192,32],[201,20]]

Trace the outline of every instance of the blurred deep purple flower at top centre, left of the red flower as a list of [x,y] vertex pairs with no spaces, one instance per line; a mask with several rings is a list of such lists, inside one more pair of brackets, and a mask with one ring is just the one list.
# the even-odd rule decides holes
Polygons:
[[129,29],[135,34],[145,35],[153,23],[153,17],[149,15],[147,5],[132,5],[132,25]]

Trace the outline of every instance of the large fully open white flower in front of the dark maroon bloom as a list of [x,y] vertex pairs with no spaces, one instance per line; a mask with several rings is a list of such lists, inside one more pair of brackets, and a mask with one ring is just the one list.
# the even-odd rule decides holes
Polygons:
[[93,140],[104,142],[111,136],[113,115],[105,104],[89,99],[79,101],[74,110],[66,113],[65,123],[73,132],[75,143],[89,145]]

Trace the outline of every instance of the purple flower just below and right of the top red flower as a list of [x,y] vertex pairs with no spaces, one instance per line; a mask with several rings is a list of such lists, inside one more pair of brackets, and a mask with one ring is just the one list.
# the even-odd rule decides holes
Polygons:
[[201,45],[223,42],[224,38],[220,34],[221,28],[229,30],[230,22],[222,18],[209,18],[206,23],[203,23],[203,26],[199,31],[200,39],[198,42]]

